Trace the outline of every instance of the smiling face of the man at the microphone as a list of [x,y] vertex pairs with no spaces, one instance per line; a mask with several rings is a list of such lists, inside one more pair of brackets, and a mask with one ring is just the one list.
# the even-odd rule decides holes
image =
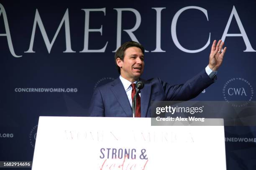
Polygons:
[[129,47],[125,50],[124,58],[117,60],[121,76],[130,82],[138,80],[144,70],[144,55],[140,48]]

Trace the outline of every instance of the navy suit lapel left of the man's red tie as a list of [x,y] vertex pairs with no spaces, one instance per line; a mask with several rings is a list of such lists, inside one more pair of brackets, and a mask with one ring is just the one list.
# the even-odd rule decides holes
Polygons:
[[[126,95],[125,89],[119,77],[113,81],[112,87],[110,87],[111,91],[116,97],[116,100],[123,108],[127,117],[132,117],[132,109],[128,97]],[[120,117],[115,115],[116,117]]]

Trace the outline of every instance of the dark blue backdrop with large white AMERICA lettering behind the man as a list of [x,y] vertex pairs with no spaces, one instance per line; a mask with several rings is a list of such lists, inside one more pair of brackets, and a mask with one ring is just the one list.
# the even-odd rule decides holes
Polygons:
[[[132,35],[149,51],[145,54],[143,78],[161,77],[172,84],[188,80],[206,67],[212,41],[228,34],[224,36],[228,49],[218,70],[218,80],[195,100],[255,100],[256,2],[253,0],[1,0],[0,4],[1,161],[32,160],[39,116],[89,114],[87,110],[95,87],[118,77],[113,52],[118,38],[120,43],[135,40],[124,30],[132,29],[136,23],[138,28]],[[177,18],[178,11],[184,7],[192,9],[184,10]],[[96,11],[90,11],[89,16],[88,9]],[[120,27],[117,26],[118,16]],[[60,26],[63,18],[64,23]],[[184,49],[204,47],[209,34],[210,45],[194,53],[181,50],[171,29],[175,18],[174,30]],[[34,24],[35,21],[38,22]],[[100,29],[102,25],[102,34],[89,32],[87,36],[84,32],[88,24],[89,29]],[[228,29],[226,33],[225,28]],[[87,40],[88,50],[100,50],[107,45],[103,52],[85,52],[84,42]],[[69,42],[70,46],[67,45]],[[152,52],[156,47],[158,50]],[[64,52],[66,50],[68,52]],[[66,92],[22,92],[38,88],[49,88],[50,91],[51,88],[61,88]],[[242,90],[246,95],[242,95]],[[256,169],[256,128],[225,127],[225,136],[226,140],[243,140],[227,140],[228,169]]]

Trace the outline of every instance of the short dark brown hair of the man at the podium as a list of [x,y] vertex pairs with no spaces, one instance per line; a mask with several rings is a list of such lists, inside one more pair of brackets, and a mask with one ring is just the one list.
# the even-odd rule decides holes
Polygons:
[[144,54],[145,52],[145,49],[144,47],[138,43],[138,42],[135,42],[135,41],[128,41],[128,42],[125,42],[123,45],[121,45],[118,50],[115,52],[115,65],[118,69],[118,72],[120,74],[120,67],[118,67],[117,63],[116,63],[116,59],[117,58],[120,58],[120,60],[123,61],[124,59],[124,56],[125,56],[125,50],[129,47],[138,47],[141,49],[142,53]]

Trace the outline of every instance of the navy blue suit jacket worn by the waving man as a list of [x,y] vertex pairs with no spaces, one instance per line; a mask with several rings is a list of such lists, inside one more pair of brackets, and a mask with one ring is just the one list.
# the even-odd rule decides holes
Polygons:
[[[150,101],[190,100],[214,82],[205,70],[181,85],[170,85],[159,78],[140,80],[145,83],[141,90],[141,117],[151,117]],[[119,77],[95,89],[89,113],[100,117],[132,117],[132,108]]]

